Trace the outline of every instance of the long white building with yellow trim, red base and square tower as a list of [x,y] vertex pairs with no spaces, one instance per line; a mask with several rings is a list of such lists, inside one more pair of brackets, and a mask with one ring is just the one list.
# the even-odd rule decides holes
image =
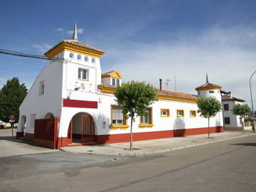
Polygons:
[[[52,60],[21,104],[17,137],[24,135],[34,141],[35,119],[58,117],[56,148],[74,143],[129,142],[130,121],[124,119],[113,95],[122,83],[122,75],[117,70],[102,74],[100,56],[104,53],[78,41],[76,27],[72,40],[50,48],[45,55]],[[208,80],[196,88],[198,96],[156,89],[159,101],[148,107],[144,117],[137,117],[134,141],[206,134],[208,119],[198,114],[196,100],[206,96],[221,102],[220,89]],[[40,134],[47,137],[47,132]],[[210,132],[223,132],[222,112],[210,118]],[[39,144],[46,145],[48,140],[42,138]]]

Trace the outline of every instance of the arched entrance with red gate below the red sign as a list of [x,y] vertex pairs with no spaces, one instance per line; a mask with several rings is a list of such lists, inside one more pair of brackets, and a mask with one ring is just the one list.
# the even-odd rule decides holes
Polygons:
[[68,127],[70,143],[95,143],[97,142],[95,122],[90,114],[79,112],[70,120]]

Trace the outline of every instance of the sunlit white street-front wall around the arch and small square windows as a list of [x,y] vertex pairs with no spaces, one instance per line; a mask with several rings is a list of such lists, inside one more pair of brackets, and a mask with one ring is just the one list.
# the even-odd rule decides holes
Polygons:
[[[100,97],[102,102],[99,102]],[[117,129],[112,130],[109,128],[111,124],[111,105],[117,105],[114,102],[114,95],[106,95],[101,93],[85,93],[85,92],[75,92],[73,99],[78,100],[89,100],[97,101],[97,109],[89,108],[78,108],[78,107],[63,107],[60,121],[59,137],[67,137],[68,135],[68,125],[70,119],[78,112],[87,112],[91,114],[95,120],[96,133],[98,135],[102,134],[124,134],[130,132],[130,127],[128,129]],[[200,117],[196,114],[196,117],[190,117],[190,110],[198,110],[196,103],[190,102],[176,102],[159,100],[155,102],[152,107],[153,114],[153,124],[154,127],[139,127],[139,117],[133,123],[133,132],[156,132],[164,130],[174,130],[174,129],[193,129],[208,127],[208,119]],[[161,108],[169,108],[170,117],[161,117]],[[184,117],[176,117],[176,110],[184,110]],[[105,122],[105,123],[104,123]],[[130,125],[130,119],[127,120],[127,124]],[[210,127],[223,126],[222,112],[219,112],[216,117],[210,118]]]

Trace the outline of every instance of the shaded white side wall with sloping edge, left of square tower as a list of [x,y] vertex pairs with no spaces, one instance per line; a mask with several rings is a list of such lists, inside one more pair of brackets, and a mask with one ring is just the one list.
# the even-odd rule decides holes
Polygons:
[[[48,112],[55,117],[60,117],[62,107],[62,62],[49,62],[36,78],[28,91],[28,95],[19,107],[20,118],[18,122],[18,132],[22,131],[21,117],[26,116],[26,132],[33,133],[34,127],[31,123],[31,114],[36,114],[36,119],[42,119]],[[39,95],[40,82],[44,82],[44,94]]]

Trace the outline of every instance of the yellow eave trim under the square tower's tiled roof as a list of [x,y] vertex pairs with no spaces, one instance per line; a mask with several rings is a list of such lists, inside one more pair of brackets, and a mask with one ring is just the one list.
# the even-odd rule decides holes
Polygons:
[[73,46],[69,43],[60,43],[57,47],[53,48],[49,52],[47,52],[45,55],[48,58],[53,58],[55,55],[58,55],[59,53],[63,52],[64,50],[68,50],[70,52],[79,53],[83,55],[89,55],[91,57],[100,58],[101,55],[104,53],[98,52],[97,50],[90,50],[88,48],[82,48],[79,46]]

